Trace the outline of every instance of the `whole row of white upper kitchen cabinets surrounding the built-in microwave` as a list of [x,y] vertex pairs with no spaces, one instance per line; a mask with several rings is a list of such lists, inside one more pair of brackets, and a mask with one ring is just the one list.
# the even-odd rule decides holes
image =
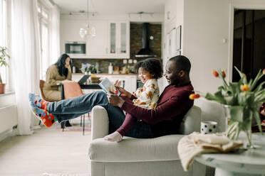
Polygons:
[[[61,21],[61,53],[66,53],[65,43],[85,42],[85,55],[71,54],[72,58],[130,58],[129,21],[90,20],[95,37],[80,38],[79,30],[86,21],[63,19]],[[67,30],[66,30],[67,29]]]

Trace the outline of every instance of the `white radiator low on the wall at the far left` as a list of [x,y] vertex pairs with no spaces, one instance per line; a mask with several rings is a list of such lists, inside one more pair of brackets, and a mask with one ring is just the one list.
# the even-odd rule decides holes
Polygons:
[[0,108],[0,133],[18,124],[16,105],[11,104]]

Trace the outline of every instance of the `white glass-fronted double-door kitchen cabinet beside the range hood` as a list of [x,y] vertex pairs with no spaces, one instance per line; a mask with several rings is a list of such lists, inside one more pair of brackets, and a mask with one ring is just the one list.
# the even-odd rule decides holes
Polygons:
[[113,58],[130,58],[129,21],[108,23],[108,55]]

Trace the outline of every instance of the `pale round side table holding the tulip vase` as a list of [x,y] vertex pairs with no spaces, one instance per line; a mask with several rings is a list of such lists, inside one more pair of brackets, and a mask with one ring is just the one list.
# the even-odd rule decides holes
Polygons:
[[[239,139],[244,140],[244,136],[240,135]],[[215,167],[215,176],[265,175],[265,135],[254,133],[252,141],[256,147],[254,149],[239,149],[233,153],[202,154],[194,160]]]

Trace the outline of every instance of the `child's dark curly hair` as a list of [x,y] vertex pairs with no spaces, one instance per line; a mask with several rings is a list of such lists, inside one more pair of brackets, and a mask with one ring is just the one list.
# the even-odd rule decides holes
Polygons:
[[155,79],[159,79],[160,77],[162,77],[163,74],[162,65],[160,60],[158,59],[149,58],[137,62],[135,64],[135,72],[137,74],[140,67],[142,67],[142,70],[150,72],[150,74],[154,74]]

